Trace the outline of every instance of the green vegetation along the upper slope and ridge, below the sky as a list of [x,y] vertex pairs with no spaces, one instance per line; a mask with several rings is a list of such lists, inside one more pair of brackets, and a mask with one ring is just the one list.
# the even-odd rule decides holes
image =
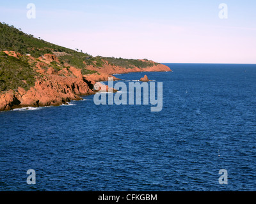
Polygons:
[[[139,61],[135,59],[122,59],[115,57],[92,57],[87,53],[77,52],[69,48],[54,45],[42,39],[34,38],[31,34],[25,34],[13,25],[2,24],[0,22],[0,51],[15,51],[20,54],[31,54],[33,57],[40,57],[44,54],[53,54],[53,52],[62,52],[65,55],[60,56],[60,61],[68,62],[71,66],[83,69],[86,65],[102,67],[104,62],[108,61],[112,65],[122,66],[124,68],[145,68],[154,66],[150,61]],[[83,63],[85,62],[85,64]],[[157,64],[157,63],[156,63]]]

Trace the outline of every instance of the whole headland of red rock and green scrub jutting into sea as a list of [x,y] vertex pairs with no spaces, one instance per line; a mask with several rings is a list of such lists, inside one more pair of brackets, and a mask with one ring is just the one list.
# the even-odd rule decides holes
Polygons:
[[80,100],[95,94],[95,83],[113,74],[172,71],[148,59],[93,57],[4,23],[0,31],[0,111]]

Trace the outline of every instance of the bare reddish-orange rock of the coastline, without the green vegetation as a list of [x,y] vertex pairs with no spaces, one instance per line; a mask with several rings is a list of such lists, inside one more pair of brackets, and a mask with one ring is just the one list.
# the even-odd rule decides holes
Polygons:
[[[19,59],[22,55],[16,52],[4,51],[6,54]],[[13,110],[14,108],[58,106],[72,100],[81,100],[81,96],[95,94],[93,89],[95,83],[108,80],[114,74],[124,74],[144,71],[172,71],[163,64],[154,64],[146,68],[124,68],[113,66],[108,61],[102,67],[88,66],[86,69],[95,73],[83,75],[81,69],[64,64],[63,68],[57,70],[52,68],[52,62],[58,62],[58,57],[54,54],[45,54],[43,57],[35,59],[26,56],[29,64],[35,64],[34,70],[40,74],[36,78],[35,85],[25,90],[19,87],[16,91],[9,90],[0,92],[0,111]],[[119,80],[113,77],[114,80]],[[108,90],[108,88],[106,89]]]

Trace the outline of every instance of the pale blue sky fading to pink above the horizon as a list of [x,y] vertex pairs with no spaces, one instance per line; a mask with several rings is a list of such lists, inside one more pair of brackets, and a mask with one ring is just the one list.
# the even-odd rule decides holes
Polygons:
[[0,22],[93,56],[256,64],[255,0],[1,0]]

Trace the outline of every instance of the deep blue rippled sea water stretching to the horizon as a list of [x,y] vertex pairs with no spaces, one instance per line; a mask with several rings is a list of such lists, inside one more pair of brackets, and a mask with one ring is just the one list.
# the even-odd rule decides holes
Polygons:
[[161,112],[93,96],[0,112],[0,191],[255,191],[256,65],[166,65],[116,75],[163,82]]

